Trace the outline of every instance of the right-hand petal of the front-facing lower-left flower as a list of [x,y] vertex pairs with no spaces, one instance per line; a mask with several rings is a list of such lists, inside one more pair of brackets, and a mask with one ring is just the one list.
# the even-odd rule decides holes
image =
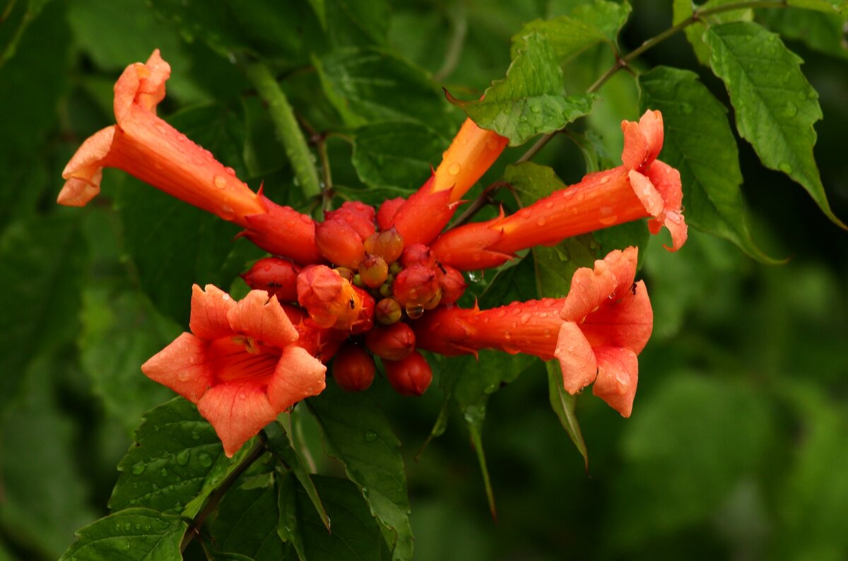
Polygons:
[[271,407],[282,413],[305,397],[317,396],[326,387],[325,374],[326,366],[305,349],[284,348],[268,383]]

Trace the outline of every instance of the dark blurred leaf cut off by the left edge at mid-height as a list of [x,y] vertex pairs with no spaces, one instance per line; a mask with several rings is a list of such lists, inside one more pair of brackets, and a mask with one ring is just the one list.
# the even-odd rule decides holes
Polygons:
[[71,217],[20,220],[0,236],[0,411],[32,358],[73,340],[85,251]]

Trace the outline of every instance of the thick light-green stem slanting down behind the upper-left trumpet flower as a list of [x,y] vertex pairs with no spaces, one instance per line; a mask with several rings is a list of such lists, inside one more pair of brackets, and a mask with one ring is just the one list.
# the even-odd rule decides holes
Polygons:
[[310,152],[303,131],[298,126],[292,106],[286,94],[277,83],[271,70],[265,64],[254,62],[244,64],[244,72],[253,82],[259,97],[268,104],[268,111],[274,121],[277,137],[286,149],[286,156],[292,163],[294,178],[306,197],[321,195],[321,183],[315,169],[315,157]]

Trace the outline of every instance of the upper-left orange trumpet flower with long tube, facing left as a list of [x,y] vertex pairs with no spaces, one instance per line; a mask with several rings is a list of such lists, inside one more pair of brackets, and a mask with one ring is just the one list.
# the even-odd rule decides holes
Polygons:
[[156,115],[170,65],[153,51],[127,66],[114,85],[116,125],[94,133],[70,158],[60,204],[81,207],[100,192],[103,168],[123,169],[157,189],[246,228],[256,245],[298,263],[321,258],[315,223],[254,193],[232,168]]

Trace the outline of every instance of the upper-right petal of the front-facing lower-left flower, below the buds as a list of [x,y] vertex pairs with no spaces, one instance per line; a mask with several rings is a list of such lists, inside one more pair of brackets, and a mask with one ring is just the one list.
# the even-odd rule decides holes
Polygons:
[[233,331],[251,336],[272,347],[283,348],[298,338],[286,312],[276,300],[268,299],[268,292],[252,290],[226,313]]

